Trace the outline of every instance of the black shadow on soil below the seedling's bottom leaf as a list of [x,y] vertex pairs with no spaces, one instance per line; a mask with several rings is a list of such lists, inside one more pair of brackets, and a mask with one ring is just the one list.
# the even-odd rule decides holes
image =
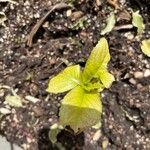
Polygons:
[[57,135],[58,142],[52,144],[48,137],[49,129],[44,128],[40,130],[38,135],[38,149],[39,150],[81,150],[84,146],[84,133],[73,135],[66,130],[62,130]]

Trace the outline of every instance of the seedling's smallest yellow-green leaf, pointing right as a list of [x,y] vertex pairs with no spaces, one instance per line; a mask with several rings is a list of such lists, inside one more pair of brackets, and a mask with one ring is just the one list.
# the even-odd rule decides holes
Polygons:
[[115,78],[112,74],[110,74],[106,69],[99,70],[96,74],[105,88],[109,88],[113,81],[115,81]]

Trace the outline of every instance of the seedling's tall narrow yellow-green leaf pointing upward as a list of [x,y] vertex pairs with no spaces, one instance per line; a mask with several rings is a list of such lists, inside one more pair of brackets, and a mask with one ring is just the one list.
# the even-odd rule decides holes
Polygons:
[[99,69],[107,68],[109,60],[110,54],[107,40],[105,38],[101,38],[87,60],[82,74],[83,82],[89,82]]

